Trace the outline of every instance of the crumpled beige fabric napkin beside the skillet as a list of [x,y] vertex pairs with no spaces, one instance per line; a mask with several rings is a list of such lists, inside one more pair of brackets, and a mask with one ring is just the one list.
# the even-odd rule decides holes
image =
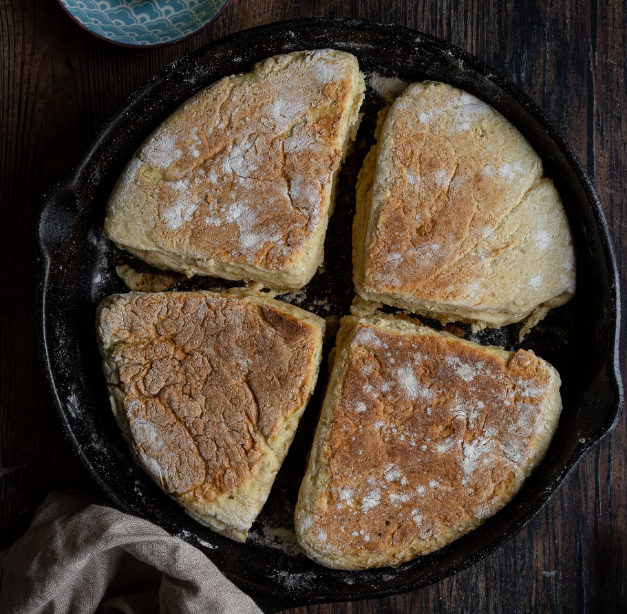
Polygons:
[[195,547],[93,498],[52,493],[0,553],[3,614],[261,614]]

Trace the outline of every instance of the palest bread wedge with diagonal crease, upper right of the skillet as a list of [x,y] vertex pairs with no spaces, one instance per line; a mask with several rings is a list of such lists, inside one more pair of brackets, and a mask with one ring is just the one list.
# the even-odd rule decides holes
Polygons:
[[357,185],[363,298],[475,329],[570,300],[575,256],[560,195],[500,113],[450,85],[414,83],[378,137]]

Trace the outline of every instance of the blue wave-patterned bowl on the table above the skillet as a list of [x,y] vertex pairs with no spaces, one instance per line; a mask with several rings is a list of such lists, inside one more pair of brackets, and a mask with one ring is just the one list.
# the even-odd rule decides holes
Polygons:
[[76,21],[126,45],[171,43],[200,30],[228,0],[61,0]]

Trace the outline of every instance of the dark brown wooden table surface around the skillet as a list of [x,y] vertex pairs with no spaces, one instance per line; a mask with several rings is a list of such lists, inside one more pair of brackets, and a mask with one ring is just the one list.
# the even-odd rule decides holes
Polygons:
[[[595,182],[627,302],[625,0],[234,0],[199,36],[158,50],[100,41],[54,0],[0,0],[0,548],[25,531],[50,490],[97,492],[63,437],[39,364],[32,231],[41,195],[125,98],[175,58],[237,30],[316,15],[439,36],[534,98]],[[626,612],[626,504],[623,417],[529,527],[474,567],[398,597],[292,612]]]

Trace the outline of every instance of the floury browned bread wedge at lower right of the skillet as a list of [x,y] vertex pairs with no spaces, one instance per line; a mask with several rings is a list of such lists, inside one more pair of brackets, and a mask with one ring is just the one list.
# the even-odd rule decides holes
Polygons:
[[550,364],[414,322],[341,321],[295,516],[299,544],[326,567],[396,566],[476,528],[557,426]]

